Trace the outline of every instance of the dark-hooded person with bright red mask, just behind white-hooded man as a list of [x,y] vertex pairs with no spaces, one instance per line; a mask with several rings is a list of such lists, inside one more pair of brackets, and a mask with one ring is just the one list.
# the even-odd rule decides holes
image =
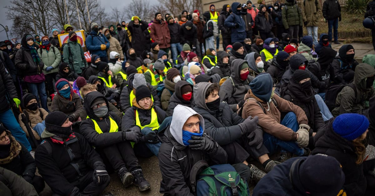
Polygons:
[[193,85],[186,81],[178,81],[174,86],[174,93],[172,94],[171,99],[169,99],[166,115],[172,116],[174,108],[177,105],[183,105],[189,108],[192,108],[194,105]]

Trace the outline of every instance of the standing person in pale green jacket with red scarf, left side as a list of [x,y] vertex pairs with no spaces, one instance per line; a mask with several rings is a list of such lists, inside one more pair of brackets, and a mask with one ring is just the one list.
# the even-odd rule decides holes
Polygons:
[[44,63],[43,74],[46,78],[48,96],[51,98],[51,94],[55,92],[53,89],[53,80],[55,80],[58,73],[58,65],[61,62],[61,54],[58,48],[51,46],[47,36],[42,37],[42,44],[39,46],[38,55]]

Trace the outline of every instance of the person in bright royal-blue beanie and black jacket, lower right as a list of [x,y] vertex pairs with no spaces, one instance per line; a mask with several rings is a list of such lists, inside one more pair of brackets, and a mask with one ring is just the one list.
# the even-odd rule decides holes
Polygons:
[[[336,158],[345,174],[344,190],[347,195],[364,195],[366,178],[363,161],[366,147],[363,140],[368,133],[369,121],[357,113],[345,113],[330,119],[314,138],[312,155],[324,154]],[[374,153],[374,152],[372,152]]]

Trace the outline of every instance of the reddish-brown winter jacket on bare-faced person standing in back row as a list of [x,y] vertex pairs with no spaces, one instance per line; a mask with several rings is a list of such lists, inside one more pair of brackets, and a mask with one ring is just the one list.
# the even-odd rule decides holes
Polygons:
[[160,49],[171,47],[171,35],[169,34],[168,24],[162,20],[162,23],[154,19],[150,28],[151,39],[159,44]]

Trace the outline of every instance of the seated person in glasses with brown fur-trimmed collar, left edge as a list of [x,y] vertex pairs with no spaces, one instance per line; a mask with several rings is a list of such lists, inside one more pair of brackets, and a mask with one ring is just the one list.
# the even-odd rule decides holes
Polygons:
[[[43,178],[35,175],[36,165],[34,158],[26,147],[18,142],[10,131],[6,130],[2,125],[0,125],[0,167],[9,169],[18,176],[21,176],[33,185],[37,193],[42,192],[44,189]],[[17,184],[17,186],[22,189],[20,184]],[[3,189],[0,188],[0,190],[1,194],[4,194]]]

